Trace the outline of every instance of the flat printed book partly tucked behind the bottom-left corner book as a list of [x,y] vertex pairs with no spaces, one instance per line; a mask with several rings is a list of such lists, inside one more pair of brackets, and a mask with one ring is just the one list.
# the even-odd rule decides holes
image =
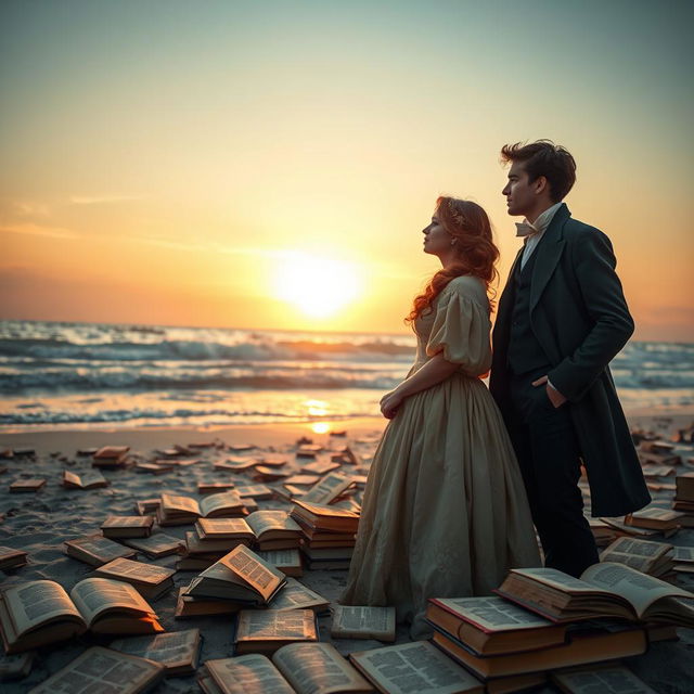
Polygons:
[[160,663],[166,668],[167,677],[193,674],[200,661],[201,646],[200,629],[170,631],[152,637],[131,637],[108,644],[114,651]]

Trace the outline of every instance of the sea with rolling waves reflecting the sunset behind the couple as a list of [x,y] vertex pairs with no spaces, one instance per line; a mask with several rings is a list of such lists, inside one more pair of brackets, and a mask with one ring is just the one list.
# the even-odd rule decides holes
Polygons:
[[[411,334],[0,321],[0,432],[224,426],[378,415]],[[694,411],[694,344],[630,342],[627,413]]]

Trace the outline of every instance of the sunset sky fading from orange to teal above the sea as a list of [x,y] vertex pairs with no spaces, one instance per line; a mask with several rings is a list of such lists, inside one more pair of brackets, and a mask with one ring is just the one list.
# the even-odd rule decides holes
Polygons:
[[0,319],[406,332],[436,197],[487,209],[505,280],[499,151],[549,138],[635,338],[692,342],[693,22],[678,0],[3,0]]

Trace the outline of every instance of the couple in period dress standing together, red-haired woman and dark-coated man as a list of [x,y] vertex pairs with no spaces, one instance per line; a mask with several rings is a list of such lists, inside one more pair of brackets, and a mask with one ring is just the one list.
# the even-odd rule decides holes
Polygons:
[[[395,605],[427,635],[428,597],[489,594],[510,568],[573,576],[599,561],[593,515],[648,503],[607,364],[633,332],[609,240],[562,202],[574,157],[541,140],[506,145],[502,191],[524,244],[489,332],[499,252],[479,205],[439,197],[424,252],[442,269],[408,317],[406,380],[381,400],[390,420],[367,483],[343,602]],[[480,377],[491,368],[489,390]],[[496,401],[496,402],[494,402]]]

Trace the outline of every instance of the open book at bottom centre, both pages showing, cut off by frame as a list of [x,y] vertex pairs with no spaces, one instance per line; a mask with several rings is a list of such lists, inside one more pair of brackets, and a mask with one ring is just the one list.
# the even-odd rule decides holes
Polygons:
[[[203,683],[204,679],[208,681]],[[330,643],[292,643],[260,654],[207,660],[207,694],[358,694],[373,687]]]

